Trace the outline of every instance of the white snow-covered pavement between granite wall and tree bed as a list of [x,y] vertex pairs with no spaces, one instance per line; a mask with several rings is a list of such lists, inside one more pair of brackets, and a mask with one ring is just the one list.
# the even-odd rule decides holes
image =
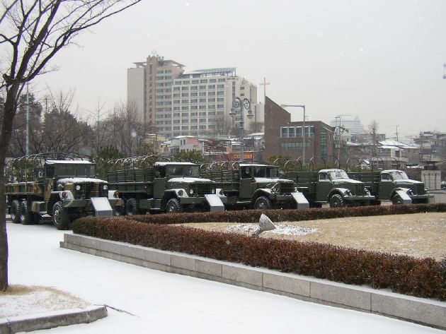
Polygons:
[[60,249],[66,232],[52,225],[8,222],[7,230],[11,284],[55,287],[114,308],[94,323],[38,333],[445,333]]

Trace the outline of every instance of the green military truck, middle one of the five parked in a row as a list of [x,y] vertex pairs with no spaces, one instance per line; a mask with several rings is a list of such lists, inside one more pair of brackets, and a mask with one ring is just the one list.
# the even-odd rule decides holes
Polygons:
[[212,164],[203,174],[215,181],[229,208],[308,208],[308,201],[292,180],[280,179],[278,167],[224,162]]

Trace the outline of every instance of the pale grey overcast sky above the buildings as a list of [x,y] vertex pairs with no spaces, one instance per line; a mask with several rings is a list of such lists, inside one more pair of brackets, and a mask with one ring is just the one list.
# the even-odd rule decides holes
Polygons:
[[75,90],[82,113],[124,102],[127,68],[156,50],[186,71],[236,67],[262,101],[265,77],[270,98],[306,105],[314,121],[358,115],[400,138],[446,131],[445,0],[144,0],[77,42],[33,86]]

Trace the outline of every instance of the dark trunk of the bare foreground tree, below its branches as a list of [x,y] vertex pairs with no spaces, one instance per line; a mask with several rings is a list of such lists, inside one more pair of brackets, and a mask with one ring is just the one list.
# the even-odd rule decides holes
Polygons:
[[8,234],[6,233],[6,198],[4,166],[6,151],[11,141],[11,129],[17,111],[17,93],[20,88],[14,83],[6,91],[3,124],[0,134],[0,291],[8,289]]

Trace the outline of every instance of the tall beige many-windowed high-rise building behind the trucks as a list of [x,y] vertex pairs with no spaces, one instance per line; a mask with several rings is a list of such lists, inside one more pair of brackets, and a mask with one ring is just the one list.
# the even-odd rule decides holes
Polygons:
[[156,126],[159,134],[168,137],[227,134],[227,129],[234,124],[239,126],[240,121],[240,115],[229,117],[234,97],[251,102],[255,117],[245,116],[247,133],[253,122],[263,122],[256,85],[237,76],[236,68],[185,72],[184,65],[161,56],[148,56],[145,63],[135,65],[136,68],[127,70],[127,101],[137,104],[144,121]]

